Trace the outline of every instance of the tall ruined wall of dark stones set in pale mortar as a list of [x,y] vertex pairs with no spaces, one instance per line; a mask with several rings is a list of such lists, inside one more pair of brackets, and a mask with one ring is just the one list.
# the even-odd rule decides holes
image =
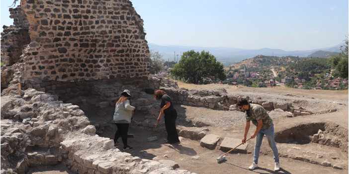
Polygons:
[[24,88],[64,99],[98,83],[146,86],[149,48],[129,0],[21,0],[20,7],[12,18],[25,23],[30,43],[15,60],[13,80]]

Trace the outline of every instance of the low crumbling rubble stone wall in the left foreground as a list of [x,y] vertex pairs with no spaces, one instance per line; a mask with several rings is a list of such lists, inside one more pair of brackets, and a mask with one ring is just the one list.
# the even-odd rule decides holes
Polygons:
[[[133,157],[114,141],[96,135],[77,105],[27,89],[1,103],[1,174],[25,174],[29,168],[64,164],[77,174],[194,174],[155,160]],[[26,111],[26,112],[24,112]]]

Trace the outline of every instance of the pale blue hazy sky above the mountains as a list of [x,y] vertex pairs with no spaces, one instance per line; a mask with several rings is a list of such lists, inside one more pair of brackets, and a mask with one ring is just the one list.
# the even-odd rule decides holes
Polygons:
[[[1,0],[2,25],[11,25]],[[132,0],[149,43],[313,50],[348,35],[348,0]],[[19,3],[17,3],[19,4]]]

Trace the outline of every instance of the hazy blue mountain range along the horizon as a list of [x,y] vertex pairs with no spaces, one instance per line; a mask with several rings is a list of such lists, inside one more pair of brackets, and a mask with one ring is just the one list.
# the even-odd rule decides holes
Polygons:
[[269,49],[263,48],[259,50],[249,50],[249,49],[237,49],[237,48],[228,48],[228,47],[185,47],[185,46],[160,46],[152,43],[148,43],[149,50],[154,50],[155,52],[159,52],[159,54],[163,55],[163,59],[165,61],[174,61],[174,52],[175,59],[180,59],[180,55],[183,52],[187,52],[190,50],[194,50],[195,52],[201,52],[205,50],[206,52],[210,52],[217,61],[222,62],[223,64],[232,64],[237,61],[241,61],[246,58],[253,58],[258,55],[263,56],[299,56],[299,57],[307,57],[317,51],[325,51],[325,52],[341,52],[340,46],[345,45],[345,43],[341,43],[339,45],[315,49],[315,50],[305,50],[305,51],[283,51],[280,49]]

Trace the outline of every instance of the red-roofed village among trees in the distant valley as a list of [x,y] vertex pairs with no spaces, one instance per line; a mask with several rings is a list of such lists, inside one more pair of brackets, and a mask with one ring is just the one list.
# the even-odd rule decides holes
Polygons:
[[[240,62],[239,62],[240,63]],[[283,63],[285,65],[286,63]],[[163,69],[157,74],[160,77],[173,78],[170,70],[173,69],[173,65],[163,65]],[[348,89],[348,79],[343,79],[338,76],[332,76],[333,69],[330,73],[318,74],[316,77],[315,85],[307,85],[307,80],[304,78],[292,78],[288,76],[281,77],[277,74],[273,74],[272,70],[282,67],[276,66],[261,66],[259,64],[247,64],[243,69],[229,68],[226,70],[227,79],[224,81],[216,80],[216,84],[228,84],[232,86],[250,86],[250,87],[266,87],[273,88],[277,86],[296,88],[296,89],[309,89],[309,90],[344,90]],[[249,72],[249,68],[258,68],[259,72]],[[246,72],[245,72],[246,71]],[[323,78],[319,78],[323,77]],[[258,82],[258,83],[257,83]],[[309,82],[309,81],[308,81]],[[281,83],[281,84],[280,84]]]

